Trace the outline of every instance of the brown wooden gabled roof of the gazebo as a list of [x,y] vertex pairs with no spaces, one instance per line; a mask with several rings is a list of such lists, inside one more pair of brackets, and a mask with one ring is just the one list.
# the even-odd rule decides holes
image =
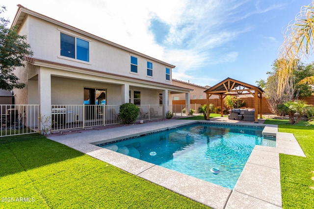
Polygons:
[[263,93],[261,87],[257,87],[251,84],[247,84],[232,78],[226,78],[225,80],[217,83],[216,85],[210,87],[209,89],[205,90],[205,93],[208,94],[252,94],[251,91],[257,91],[258,93]]

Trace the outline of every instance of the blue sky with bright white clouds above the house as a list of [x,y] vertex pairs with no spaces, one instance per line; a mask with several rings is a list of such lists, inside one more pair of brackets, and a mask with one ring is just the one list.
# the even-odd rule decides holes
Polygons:
[[[172,78],[212,86],[266,79],[283,28],[311,0],[4,0],[78,27],[176,68]],[[306,61],[306,63],[312,60]]]

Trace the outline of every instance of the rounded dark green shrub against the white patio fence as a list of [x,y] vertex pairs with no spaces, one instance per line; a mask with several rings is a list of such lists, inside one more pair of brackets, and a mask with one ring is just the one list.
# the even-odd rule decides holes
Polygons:
[[139,108],[133,103],[125,103],[120,105],[120,118],[123,124],[134,123],[139,114]]

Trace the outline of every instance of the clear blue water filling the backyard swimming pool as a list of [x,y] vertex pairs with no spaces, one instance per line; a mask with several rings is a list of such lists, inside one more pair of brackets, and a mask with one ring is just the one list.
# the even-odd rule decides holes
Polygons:
[[276,146],[275,139],[262,137],[262,130],[197,123],[100,146],[233,189],[254,146]]

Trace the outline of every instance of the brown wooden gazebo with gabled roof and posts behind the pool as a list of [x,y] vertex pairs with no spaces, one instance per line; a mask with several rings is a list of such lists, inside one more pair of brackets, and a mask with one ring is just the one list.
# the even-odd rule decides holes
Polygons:
[[[262,118],[262,93],[264,92],[262,88],[253,86],[251,84],[247,84],[241,81],[237,81],[232,78],[226,78],[225,80],[219,82],[208,90],[204,91],[206,93],[207,99],[207,111],[209,111],[209,97],[214,95],[219,95],[220,103],[221,103],[221,116],[223,116],[223,99],[227,95],[242,95],[242,94],[252,94],[254,96],[254,104],[255,104],[255,115],[254,121],[258,122],[258,110],[260,110],[260,118]],[[259,102],[260,99],[260,108]],[[207,119],[209,119],[209,114],[207,115]]]

